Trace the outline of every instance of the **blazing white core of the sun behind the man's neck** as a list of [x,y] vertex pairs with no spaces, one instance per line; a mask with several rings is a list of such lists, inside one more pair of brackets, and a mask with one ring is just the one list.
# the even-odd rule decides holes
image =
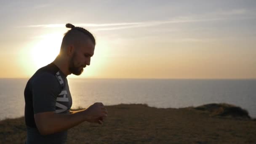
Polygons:
[[59,54],[62,36],[47,34],[40,36],[40,40],[32,47],[31,59],[36,69],[50,64]]

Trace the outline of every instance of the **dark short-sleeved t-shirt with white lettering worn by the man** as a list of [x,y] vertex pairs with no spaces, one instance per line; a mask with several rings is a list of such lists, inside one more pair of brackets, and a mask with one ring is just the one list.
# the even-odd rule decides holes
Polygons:
[[27,125],[27,144],[63,144],[67,131],[40,135],[35,124],[34,114],[55,112],[67,114],[72,106],[66,76],[53,63],[42,67],[28,80],[25,91],[25,122]]

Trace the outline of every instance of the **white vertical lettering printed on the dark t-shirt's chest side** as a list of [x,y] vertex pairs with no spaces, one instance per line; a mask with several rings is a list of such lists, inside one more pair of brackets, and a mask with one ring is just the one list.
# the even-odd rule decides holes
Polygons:
[[[67,97],[67,90],[65,90],[66,87],[64,87],[64,81],[60,75],[59,72],[56,73],[56,77],[59,80],[59,83],[61,84],[61,86],[63,86],[63,90],[61,91],[61,93],[59,94],[59,96],[56,99],[56,113],[60,113],[60,112],[65,112],[67,111],[67,106],[65,106],[64,104],[61,104],[61,102],[69,102],[69,99]],[[59,102],[58,102],[59,101]],[[57,109],[57,107],[59,107],[60,109]]]

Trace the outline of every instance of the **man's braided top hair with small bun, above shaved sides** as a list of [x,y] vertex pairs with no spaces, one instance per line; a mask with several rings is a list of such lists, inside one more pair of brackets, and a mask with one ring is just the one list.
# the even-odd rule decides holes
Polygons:
[[82,32],[83,34],[87,35],[91,39],[91,41],[93,42],[94,45],[96,44],[95,38],[93,37],[91,32],[89,32],[88,30],[84,29],[83,27],[75,27],[73,24],[66,24],[66,27],[67,28],[71,28],[71,29],[64,34],[63,39],[65,37],[68,37],[72,33],[72,31],[77,30],[77,31]]

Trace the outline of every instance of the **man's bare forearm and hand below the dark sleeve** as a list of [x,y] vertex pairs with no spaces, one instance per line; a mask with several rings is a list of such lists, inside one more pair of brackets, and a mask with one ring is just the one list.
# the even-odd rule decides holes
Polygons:
[[56,114],[55,112],[41,112],[34,115],[37,128],[42,135],[57,133],[72,128],[84,121],[102,123],[107,117],[107,109],[102,103],[95,103],[88,109],[74,114]]

